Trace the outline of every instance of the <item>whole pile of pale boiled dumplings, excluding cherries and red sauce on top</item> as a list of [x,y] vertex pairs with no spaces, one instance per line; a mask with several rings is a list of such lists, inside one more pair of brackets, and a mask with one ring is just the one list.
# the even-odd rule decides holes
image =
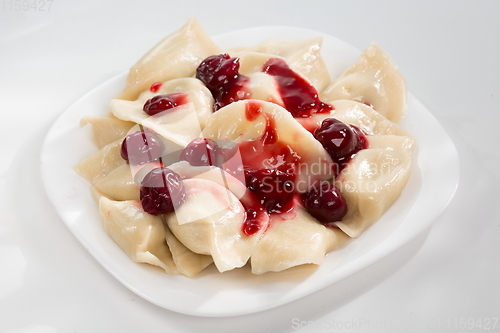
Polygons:
[[[107,114],[81,120],[82,126],[92,127],[98,151],[75,170],[91,184],[104,230],[131,260],[188,277],[212,264],[219,272],[250,265],[254,274],[320,265],[329,252],[360,236],[397,200],[410,176],[415,148],[413,137],[399,125],[405,114],[404,79],[387,54],[371,44],[332,80],[321,56],[321,43],[321,38],[270,40],[221,50],[190,20],[130,69],[125,88],[111,100]],[[240,73],[252,82],[250,98],[260,100],[262,113],[274,120],[278,140],[302,157],[304,170],[299,176],[307,183],[334,181],[348,206],[341,221],[325,226],[296,205],[290,212],[270,214],[267,228],[245,235],[239,201],[245,184],[215,166],[191,166],[175,158],[163,163],[183,178],[186,202],[176,212],[162,216],[142,209],[140,185],[134,179],[141,171],[120,156],[123,139],[138,126],[155,131],[180,149],[199,137],[240,142],[262,136],[265,121],[245,117],[248,100],[214,112],[210,91],[195,78],[196,68],[205,58],[221,53],[240,59]],[[279,103],[269,102],[279,100],[279,94],[260,68],[272,57],[285,59],[311,82],[332,111],[294,118]],[[156,82],[162,85],[152,92],[150,87]],[[187,94],[189,103],[175,112],[151,117],[143,111],[144,103],[153,96],[179,92]],[[368,141],[368,147],[333,180],[329,168],[315,164],[331,163],[331,159],[306,129],[331,117],[356,126]]]

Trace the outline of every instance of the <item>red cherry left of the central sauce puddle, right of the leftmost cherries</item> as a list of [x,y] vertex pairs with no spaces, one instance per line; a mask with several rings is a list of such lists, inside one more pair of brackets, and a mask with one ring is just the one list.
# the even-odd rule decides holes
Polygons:
[[217,147],[215,140],[197,138],[182,150],[180,159],[193,166],[217,165]]

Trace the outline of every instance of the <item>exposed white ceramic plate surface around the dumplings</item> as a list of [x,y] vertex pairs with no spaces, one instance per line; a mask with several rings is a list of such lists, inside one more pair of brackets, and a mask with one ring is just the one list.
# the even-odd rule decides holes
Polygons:
[[[290,27],[262,27],[214,37],[222,48],[253,45],[270,37],[300,39],[321,35],[332,77],[356,60],[359,51],[325,34]],[[341,250],[330,253],[317,269],[296,268],[255,276],[246,268],[219,274],[214,268],[195,279],[168,276],[132,262],[105,234],[89,184],[72,166],[96,150],[85,115],[106,112],[124,85],[125,74],[83,96],[54,123],[43,144],[44,185],[62,220],[82,245],[113,276],[141,297],[161,307],[197,316],[233,316],[263,311],[318,291],[397,250],[427,229],[454,194],[459,178],[455,147],[438,121],[413,95],[403,126],[418,142],[415,168],[400,199],[374,226]]]

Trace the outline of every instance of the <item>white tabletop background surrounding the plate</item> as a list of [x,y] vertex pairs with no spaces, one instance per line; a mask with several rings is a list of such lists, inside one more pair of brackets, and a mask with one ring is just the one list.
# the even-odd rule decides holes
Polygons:
[[[500,2],[15,4],[0,1],[0,332],[478,332],[495,318],[500,331]],[[457,193],[432,228],[323,291],[247,316],[180,315],[115,280],[52,209],[41,141],[75,100],[189,17],[210,35],[290,25],[359,49],[377,41],[459,152]]]

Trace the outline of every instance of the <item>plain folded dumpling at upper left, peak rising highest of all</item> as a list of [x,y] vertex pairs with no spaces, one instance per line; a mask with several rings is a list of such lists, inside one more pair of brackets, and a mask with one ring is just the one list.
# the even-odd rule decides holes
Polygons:
[[219,47],[191,19],[146,53],[132,68],[118,99],[135,100],[153,83],[193,76],[206,57],[220,53]]

